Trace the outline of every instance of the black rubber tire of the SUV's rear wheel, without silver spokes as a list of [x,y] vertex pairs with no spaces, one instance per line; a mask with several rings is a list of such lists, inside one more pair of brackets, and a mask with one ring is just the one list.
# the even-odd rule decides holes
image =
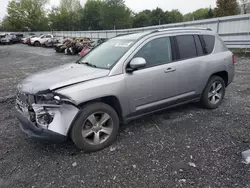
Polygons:
[[[214,83],[217,84],[217,86],[218,86],[218,84],[221,84],[221,89],[219,90],[221,97],[218,98],[216,96],[216,98],[217,98],[217,102],[216,103],[213,103],[211,101],[211,99],[214,97],[213,95],[216,95],[216,93],[211,92],[211,90],[213,89],[212,87],[213,87]],[[225,86],[224,80],[221,77],[219,77],[219,76],[212,76],[208,80],[208,83],[207,83],[207,85],[206,85],[206,87],[205,87],[205,89],[204,89],[204,91],[202,93],[200,103],[201,103],[201,105],[204,108],[208,108],[208,109],[218,108],[221,105],[221,103],[222,103],[222,101],[224,99],[225,93],[226,93],[226,86]],[[209,98],[210,94],[213,94],[212,98]]]

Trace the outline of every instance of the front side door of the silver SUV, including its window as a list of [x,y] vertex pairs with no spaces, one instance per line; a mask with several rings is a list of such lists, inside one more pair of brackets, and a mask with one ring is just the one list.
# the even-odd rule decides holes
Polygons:
[[[146,60],[146,67],[126,74],[126,86],[130,113],[151,111],[161,105],[165,98],[176,95],[178,80],[174,71],[166,72],[172,62],[169,37],[158,37],[145,41],[134,55]],[[167,91],[167,96],[166,96]]]

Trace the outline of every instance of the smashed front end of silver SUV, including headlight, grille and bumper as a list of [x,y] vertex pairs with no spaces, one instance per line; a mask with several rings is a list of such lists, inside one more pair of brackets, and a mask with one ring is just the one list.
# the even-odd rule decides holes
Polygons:
[[79,112],[72,100],[50,90],[35,95],[18,91],[16,109],[23,132],[49,140],[66,138]]

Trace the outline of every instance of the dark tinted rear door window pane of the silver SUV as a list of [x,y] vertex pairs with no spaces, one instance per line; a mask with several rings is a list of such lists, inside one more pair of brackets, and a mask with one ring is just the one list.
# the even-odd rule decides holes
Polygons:
[[193,35],[176,36],[180,59],[189,59],[197,56],[195,40]]

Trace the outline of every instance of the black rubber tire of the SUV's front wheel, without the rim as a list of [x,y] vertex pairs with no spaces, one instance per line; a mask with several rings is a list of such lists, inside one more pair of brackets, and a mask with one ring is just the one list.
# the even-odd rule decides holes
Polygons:
[[[82,131],[84,130],[84,126],[86,125],[85,123],[88,121],[87,120],[88,117],[98,112],[104,112],[109,115],[110,119],[108,121],[112,122],[112,131],[111,134],[106,138],[106,140],[103,143],[96,145],[94,143],[93,144],[89,143],[89,141],[83,137]],[[90,103],[84,106],[82,110],[79,112],[78,117],[75,120],[73,127],[71,129],[71,139],[79,149],[82,149],[86,152],[98,151],[111,145],[115,141],[117,134],[119,132],[119,126],[120,126],[119,117],[116,111],[112,107],[101,102]],[[93,129],[93,127],[89,128],[88,130],[90,129]],[[95,137],[95,132],[91,134],[94,134],[93,137]]]

